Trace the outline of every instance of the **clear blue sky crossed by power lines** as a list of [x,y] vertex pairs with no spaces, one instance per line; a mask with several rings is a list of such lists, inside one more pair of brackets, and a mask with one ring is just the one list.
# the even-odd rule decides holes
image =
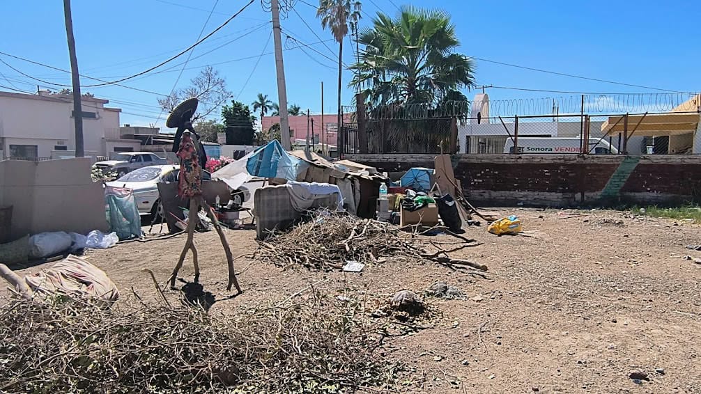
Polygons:
[[[315,3],[315,0],[306,0]],[[73,0],[73,21],[81,74],[105,80],[128,76],[154,66],[195,42],[215,0]],[[215,29],[240,9],[245,0],[221,0],[215,8],[205,34]],[[397,8],[412,4],[439,6],[451,14],[461,41],[460,52],[489,59],[569,73],[590,78],[613,80],[667,90],[701,90],[701,3],[681,1],[467,1],[467,0],[365,0],[361,25],[367,25],[377,12],[394,14]],[[180,6],[179,6],[179,5]],[[0,51],[36,62],[69,69],[62,1],[4,0],[4,39]],[[198,8],[198,9],[190,9]],[[294,7],[314,33],[331,38],[315,19],[315,9],[296,2]],[[282,21],[303,43],[319,39],[290,12]],[[198,45],[180,78],[184,87],[207,64],[214,64],[236,99],[250,104],[258,92],[277,101],[273,40],[270,37],[270,13],[255,1],[239,17],[209,40]],[[245,36],[241,37],[243,34]],[[234,41],[234,38],[238,38]],[[233,42],[231,42],[233,41]],[[283,34],[283,41],[285,36]],[[346,41],[348,43],[348,41]],[[226,44],[217,50],[205,52]],[[327,113],[336,111],[336,43],[317,43],[306,53],[286,50],[285,73],[288,100],[319,113],[320,82],[325,84]],[[348,48],[348,45],[346,45]],[[350,49],[350,48],[348,48]],[[318,51],[325,56],[320,55]],[[261,53],[260,62],[254,68]],[[198,57],[200,56],[201,57]],[[248,59],[241,59],[248,57]],[[313,59],[311,59],[313,57]],[[344,62],[353,54],[346,50]],[[142,90],[168,94],[186,55],[147,76],[124,84]],[[36,78],[70,85],[68,73],[29,64],[0,55],[8,64]],[[315,62],[315,60],[317,62]],[[475,76],[480,85],[564,90],[572,92],[662,92],[541,73],[475,60]],[[0,64],[0,85],[36,91],[37,82]],[[244,86],[246,79],[250,81]],[[350,71],[343,75],[345,82]],[[82,78],[81,84],[95,83]],[[43,87],[52,87],[39,83]],[[345,83],[344,83],[345,85]],[[53,86],[54,89],[60,87]],[[1,90],[5,90],[1,88]],[[157,96],[124,87],[84,88],[97,97],[110,99],[111,106],[123,108],[122,123],[147,125],[156,122],[160,110]],[[472,97],[474,92],[468,92]],[[490,89],[492,100],[570,96],[549,92]],[[352,92],[343,91],[343,102]],[[165,115],[158,123],[163,126]]]

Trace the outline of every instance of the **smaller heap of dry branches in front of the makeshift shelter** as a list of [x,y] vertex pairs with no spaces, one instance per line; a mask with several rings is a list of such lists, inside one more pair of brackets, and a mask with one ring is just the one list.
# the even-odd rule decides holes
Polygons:
[[[479,245],[472,239],[452,235],[461,242],[446,251],[427,237],[407,234],[395,225],[320,209],[311,212],[308,220],[290,231],[272,232],[261,242],[260,258],[278,267],[301,265],[320,271],[342,269],[348,261],[372,265],[388,258],[430,260],[451,269],[458,265],[486,271],[484,265],[449,258],[447,253]],[[433,246],[433,253],[429,251],[430,246]]]

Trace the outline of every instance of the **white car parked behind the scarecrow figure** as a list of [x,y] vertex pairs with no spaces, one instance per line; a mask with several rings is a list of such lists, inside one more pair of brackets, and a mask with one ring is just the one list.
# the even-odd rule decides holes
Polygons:
[[[158,216],[163,218],[163,206],[158,198],[158,182],[177,182],[180,167],[174,164],[158,165],[135,169],[129,174],[121,176],[116,181],[107,182],[114,188],[130,188],[134,192],[134,198],[139,215]],[[212,181],[212,174],[202,171],[203,181]],[[234,204],[241,205],[249,201],[251,193],[245,186],[231,192]]]

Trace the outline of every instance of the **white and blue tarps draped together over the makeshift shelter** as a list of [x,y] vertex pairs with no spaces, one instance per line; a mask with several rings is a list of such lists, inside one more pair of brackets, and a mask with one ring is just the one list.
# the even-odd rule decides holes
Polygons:
[[212,178],[224,181],[229,188],[236,190],[254,177],[294,181],[307,167],[307,162],[290,155],[277,140],[273,140],[236,162],[218,169],[212,174]]

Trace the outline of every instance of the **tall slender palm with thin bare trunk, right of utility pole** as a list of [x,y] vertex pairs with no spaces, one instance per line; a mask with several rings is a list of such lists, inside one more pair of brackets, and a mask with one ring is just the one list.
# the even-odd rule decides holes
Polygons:
[[[321,27],[329,29],[339,43],[339,113],[338,127],[341,127],[341,74],[343,72],[343,38],[348,34],[348,25],[357,24],[360,20],[360,8],[362,4],[358,0],[319,0],[319,8],[316,17],[321,19]],[[339,129],[340,131],[340,129]],[[341,145],[343,144],[343,133]]]

